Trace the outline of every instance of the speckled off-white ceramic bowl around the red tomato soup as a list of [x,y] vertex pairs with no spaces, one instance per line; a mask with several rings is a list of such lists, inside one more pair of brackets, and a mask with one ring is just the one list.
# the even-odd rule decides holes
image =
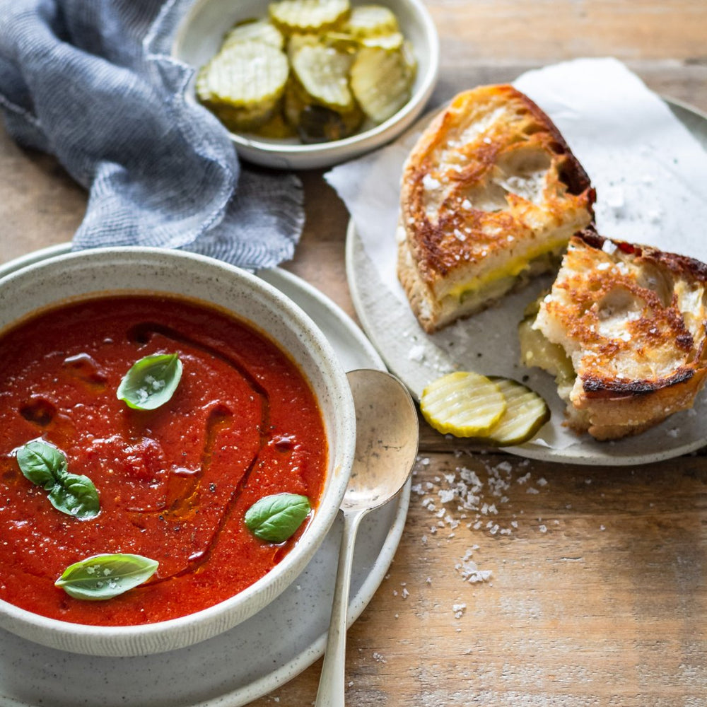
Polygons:
[[182,648],[226,631],[269,604],[307,565],[336,518],[356,445],[346,373],[327,339],[295,304],[262,280],[214,259],[151,248],[69,253],[0,280],[0,332],[37,310],[108,293],[168,293],[211,303],[247,320],[279,344],[309,380],[329,443],[320,503],[284,559],[255,584],[213,607],[141,626],[86,626],[0,601],[0,627],[52,648],[88,655],[144,655]]

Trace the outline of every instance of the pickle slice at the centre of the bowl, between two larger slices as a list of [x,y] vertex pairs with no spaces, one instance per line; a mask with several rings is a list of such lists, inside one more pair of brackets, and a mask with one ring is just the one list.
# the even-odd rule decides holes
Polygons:
[[325,45],[304,45],[292,57],[292,71],[306,93],[327,108],[349,111],[354,97],[349,90],[352,57]]

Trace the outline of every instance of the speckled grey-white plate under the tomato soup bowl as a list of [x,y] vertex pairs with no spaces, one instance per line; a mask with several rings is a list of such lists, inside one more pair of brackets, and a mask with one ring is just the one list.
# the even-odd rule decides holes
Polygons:
[[[69,250],[59,245],[0,266],[0,277]],[[382,368],[375,349],[330,300],[286,271],[261,274],[312,317],[346,370]],[[349,619],[378,588],[402,534],[410,485],[363,520]],[[209,641],[140,658],[63,653],[0,630],[0,703],[7,707],[238,707],[284,684],[322,655],[341,520],[300,577],[266,609]]]

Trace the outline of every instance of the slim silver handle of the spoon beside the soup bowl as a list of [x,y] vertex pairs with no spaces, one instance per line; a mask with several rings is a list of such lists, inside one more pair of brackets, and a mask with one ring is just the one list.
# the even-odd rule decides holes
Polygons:
[[351,565],[354,560],[356,532],[362,510],[344,513],[344,534],[341,536],[337,583],[334,585],[332,618],[329,622],[327,649],[317,689],[315,707],[344,707],[344,667],[346,665],[346,613],[349,609]]

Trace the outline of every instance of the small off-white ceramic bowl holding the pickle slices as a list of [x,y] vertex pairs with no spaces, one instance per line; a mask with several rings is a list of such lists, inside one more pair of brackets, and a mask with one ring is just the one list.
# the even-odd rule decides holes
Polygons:
[[[378,1],[378,0],[377,0]],[[352,0],[352,4],[370,4]],[[266,167],[312,169],[335,165],[385,145],[409,127],[425,107],[437,80],[439,40],[435,25],[420,0],[380,0],[395,13],[402,33],[411,42],[417,73],[410,100],[395,115],[373,128],[343,140],[303,145],[296,139],[271,140],[230,133],[238,154]],[[197,0],[177,28],[173,57],[195,69],[218,52],[226,30],[240,20],[267,17],[269,0]],[[194,80],[187,87],[194,97]]]

